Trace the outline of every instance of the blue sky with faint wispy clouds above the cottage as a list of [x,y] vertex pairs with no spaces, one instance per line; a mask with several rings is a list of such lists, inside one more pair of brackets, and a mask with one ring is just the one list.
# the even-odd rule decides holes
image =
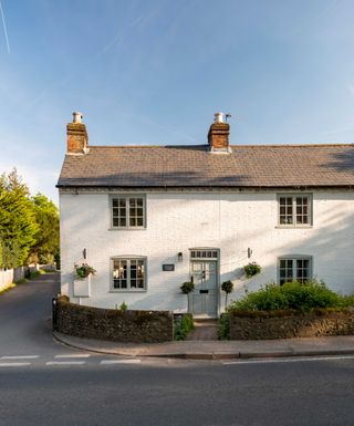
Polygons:
[[0,173],[58,202],[91,145],[354,142],[353,0],[0,0]]

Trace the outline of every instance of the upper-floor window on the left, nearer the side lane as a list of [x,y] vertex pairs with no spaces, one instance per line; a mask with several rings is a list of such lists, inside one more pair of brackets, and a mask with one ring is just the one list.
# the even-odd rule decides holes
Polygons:
[[112,228],[138,229],[145,228],[144,196],[112,196],[111,226]]

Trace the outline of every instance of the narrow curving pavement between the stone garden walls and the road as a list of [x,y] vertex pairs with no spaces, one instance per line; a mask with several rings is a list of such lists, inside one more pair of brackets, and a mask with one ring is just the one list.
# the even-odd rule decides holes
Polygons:
[[124,356],[163,356],[186,360],[354,355],[354,335],[258,341],[181,341],[118,343],[74,337],[54,332],[54,337],[83,351]]

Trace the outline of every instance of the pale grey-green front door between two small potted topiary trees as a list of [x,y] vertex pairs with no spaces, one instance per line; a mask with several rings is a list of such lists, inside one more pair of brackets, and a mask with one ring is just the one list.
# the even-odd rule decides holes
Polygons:
[[190,293],[191,313],[216,318],[218,315],[217,262],[192,261],[191,279],[195,284],[195,291]]

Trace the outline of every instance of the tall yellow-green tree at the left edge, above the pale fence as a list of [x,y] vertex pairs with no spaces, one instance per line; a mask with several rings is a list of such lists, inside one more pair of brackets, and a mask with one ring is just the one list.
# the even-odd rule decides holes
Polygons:
[[35,241],[35,221],[29,190],[13,169],[0,176],[0,268],[24,263]]

